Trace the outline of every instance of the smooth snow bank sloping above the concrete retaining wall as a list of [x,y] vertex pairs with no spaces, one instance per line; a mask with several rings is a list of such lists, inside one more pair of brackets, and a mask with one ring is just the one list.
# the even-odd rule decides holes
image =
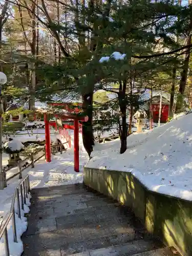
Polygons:
[[119,154],[119,139],[96,143],[90,168],[131,172],[148,189],[192,201],[192,114],[183,115],[153,131],[127,138]]

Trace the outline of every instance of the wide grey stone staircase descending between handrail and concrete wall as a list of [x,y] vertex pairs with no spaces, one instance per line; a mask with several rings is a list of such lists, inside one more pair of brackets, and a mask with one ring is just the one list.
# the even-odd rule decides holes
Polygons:
[[33,189],[25,256],[168,256],[133,212],[82,184]]

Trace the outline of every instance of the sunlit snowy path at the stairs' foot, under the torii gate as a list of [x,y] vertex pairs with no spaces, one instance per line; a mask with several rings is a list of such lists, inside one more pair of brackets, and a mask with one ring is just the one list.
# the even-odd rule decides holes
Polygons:
[[[70,131],[70,130],[69,130]],[[83,166],[89,160],[87,152],[84,150],[82,144],[82,136],[79,134],[79,173],[74,171],[74,136],[73,131],[70,131],[71,136],[71,149],[63,152],[61,155],[57,153],[52,155],[50,163],[45,162],[42,158],[35,164],[35,168],[28,170],[30,177],[30,186],[46,187],[65,184],[75,184],[83,182]],[[60,138],[64,142],[63,138]]]

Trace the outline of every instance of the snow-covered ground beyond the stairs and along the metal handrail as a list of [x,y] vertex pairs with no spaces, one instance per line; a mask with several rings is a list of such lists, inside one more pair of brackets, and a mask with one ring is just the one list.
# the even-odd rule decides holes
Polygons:
[[[79,134],[80,172],[74,172],[73,131],[71,131],[70,134],[72,142],[71,149],[68,149],[66,152],[63,152],[62,155],[60,153],[52,155],[52,162],[50,163],[47,163],[44,158],[41,158],[38,162],[35,163],[34,168],[28,167],[26,170],[24,170],[22,175],[23,177],[26,177],[26,175],[29,174],[31,188],[74,184],[81,183],[83,181],[83,166],[88,162],[89,157],[82,145],[82,136]],[[28,135],[24,135],[24,137],[25,136]],[[15,137],[17,138],[17,135]],[[19,137],[22,138],[22,135],[20,135]],[[27,138],[29,139],[29,136]],[[26,141],[26,139],[23,138],[22,141],[24,142]],[[10,172],[17,172],[17,167],[13,168]],[[0,190],[0,225],[3,217],[5,217],[10,210],[14,188],[19,184],[19,182],[20,180],[17,176],[8,182],[7,188],[4,188],[4,190]],[[26,206],[24,212],[28,211],[29,207]],[[20,254],[23,252],[23,243],[20,240],[20,236],[27,228],[27,219],[24,217],[24,212],[22,211],[22,221],[20,221],[16,215],[17,236],[19,237],[18,243],[13,242],[11,221],[8,225],[8,236],[11,256],[20,256]],[[0,256],[5,256],[3,239],[1,239],[0,241]]]

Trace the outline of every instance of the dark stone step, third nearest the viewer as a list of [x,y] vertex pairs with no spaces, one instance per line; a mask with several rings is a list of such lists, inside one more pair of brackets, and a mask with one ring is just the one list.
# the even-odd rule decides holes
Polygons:
[[[61,231],[50,231],[33,236],[23,237],[25,253],[23,256],[69,256],[78,253],[89,253],[101,248],[109,248],[116,245],[133,242],[134,240],[145,239],[145,244],[150,238],[144,233],[119,234],[117,236],[106,236],[102,238],[75,240],[64,236]],[[35,244],[35,246],[34,246]],[[141,245],[141,243],[139,243]],[[159,246],[159,245],[156,245]],[[80,255],[81,255],[80,254]],[[84,254],[83,254],[84,255]],[[89,255],[89,254],[88,254]]]

